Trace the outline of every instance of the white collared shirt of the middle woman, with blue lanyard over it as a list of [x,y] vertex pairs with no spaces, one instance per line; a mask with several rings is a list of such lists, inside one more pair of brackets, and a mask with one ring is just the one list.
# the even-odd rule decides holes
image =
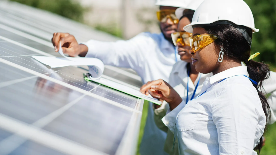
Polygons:
[[[186,101],[187,86],[189,87],[188,99],[190,100],[198,81],[199,81],[199,84],[198,84],[198,88],[196,89],[195,97],[198,96],[198,94],[201,91],[203,82],[209,76],[212,76],[212,73],[209,73],[209,74],[199,73],[198,77],[196,78],[195,82],[193,83],[191,78],[188,77],[187,62],[178,61],[173,66],[173,70],[170,73],[168,83],[170,84],[170,86],[172,86],[177,91],[177,93],[181,96],[181,98],[184,101]],[[189,80],[189,83],[188,83],[188,80]],[[164,150],[170,155],[178,154],[177,142],[175,143],[175,147],[173,150],[174,124],[176,122],[177,114],[179,113],[179,111],[181,111],[181,109],[185,106],[185,104],[186,104],[186,102],[182,102],[175,109],[170,111],[170,109],[168,107],[168,103],[163,102],[162,106],[160,108],[155,109],[154,118],[155,118],[156,125],[161,129],[164,129],[164,127],[166,127],[166,126],[168,127],[167,129],[169,129],[169,130],[167,130],[167,138],[166,138]]]

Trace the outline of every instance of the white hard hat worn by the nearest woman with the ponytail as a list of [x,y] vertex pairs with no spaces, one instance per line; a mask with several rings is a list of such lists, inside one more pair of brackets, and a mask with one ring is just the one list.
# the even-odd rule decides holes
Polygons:
[[229,24],[236,28],[241,25],[251,28],[253,33],[259,31],[255,28],[252,11],[243,0],[204,0],[196,9],[191,24],[185,26],[184,30],[192,33],[195,27],[216,24]]

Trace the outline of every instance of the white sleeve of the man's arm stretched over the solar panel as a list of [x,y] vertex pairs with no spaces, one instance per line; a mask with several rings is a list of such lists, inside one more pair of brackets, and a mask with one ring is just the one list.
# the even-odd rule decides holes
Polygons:
[[147,33],[141,33],[130,40],[116,42],[103,42],[89,40],[83,42],[88,47],[85,57],[95,57],[105,65],[116,67],[137,68],[144,65],[149,52],[154,50],[156,44]]

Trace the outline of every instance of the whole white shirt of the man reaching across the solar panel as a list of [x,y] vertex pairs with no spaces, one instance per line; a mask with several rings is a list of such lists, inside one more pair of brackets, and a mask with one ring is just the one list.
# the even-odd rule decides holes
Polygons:
[[[144,32],[126,41],[89,40],[82,44],[88,47],[85,57],[98,58],[105,65],[132,68],[142,78],[143,83],[158,79],[168,81],[176,59],[180,60],[180,56],[175,53],[174,45],[166,40],[162,33]],[[140,153],[165,155],[166,135],[166,132],[160,130],[154,123],[154,111],[150,103]]]

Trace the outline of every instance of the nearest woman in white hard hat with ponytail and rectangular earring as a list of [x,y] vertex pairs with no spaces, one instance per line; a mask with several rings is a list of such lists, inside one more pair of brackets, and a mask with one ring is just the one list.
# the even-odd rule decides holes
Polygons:
[[[196,71],[213,76],[178,114],[179,154],[257,154],[270,118],[258,88],[270,72],[252,60],[258,53],[250,56],[252,33],[258,32],[250,8],[242,0],[205,0],[184,30],[193,32],[190,53]],[[164,81],[144,89],[170,106],[186,102]]]

